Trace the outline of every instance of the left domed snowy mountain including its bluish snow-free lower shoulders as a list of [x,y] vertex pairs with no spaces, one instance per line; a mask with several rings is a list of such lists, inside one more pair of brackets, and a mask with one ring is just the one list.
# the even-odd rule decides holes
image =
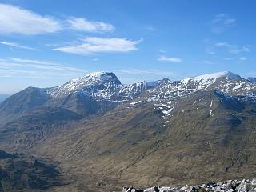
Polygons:
[[[94,72],[51,88],[28,87],[0,105],[1,119],[19,117],[38,107],[61,107],[79,115],[98,114],[137,98],[143,91],[160,85],[156,82],[122,84],[115,74]],[[10,119],[10,118],[8,118]]]

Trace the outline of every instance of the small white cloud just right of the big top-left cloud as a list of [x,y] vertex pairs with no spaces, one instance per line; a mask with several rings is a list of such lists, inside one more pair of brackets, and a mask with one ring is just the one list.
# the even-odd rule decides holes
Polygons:
[[114,30],[114,26],[106,22],[88,21],[86,18],[70,18],[70,29],[86,32],[107,32]]

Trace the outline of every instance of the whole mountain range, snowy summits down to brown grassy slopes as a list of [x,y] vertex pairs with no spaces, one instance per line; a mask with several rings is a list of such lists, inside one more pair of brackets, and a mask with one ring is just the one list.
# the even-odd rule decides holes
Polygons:
[[0,103],[1,149],[58,162],[74,178],[62,191],[255,177],[255,125],[255,78],[228,71],[131,85],[95,72]]

